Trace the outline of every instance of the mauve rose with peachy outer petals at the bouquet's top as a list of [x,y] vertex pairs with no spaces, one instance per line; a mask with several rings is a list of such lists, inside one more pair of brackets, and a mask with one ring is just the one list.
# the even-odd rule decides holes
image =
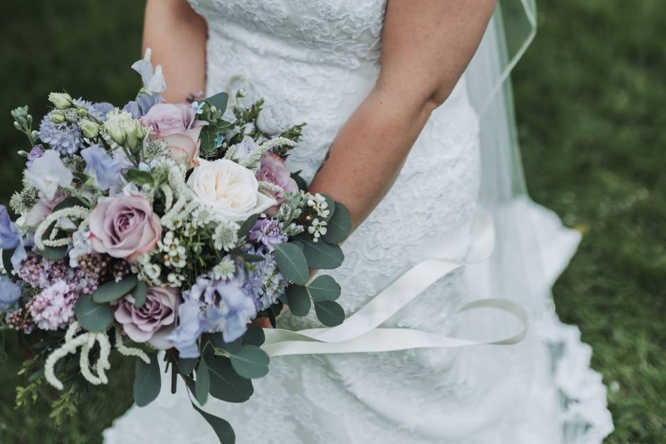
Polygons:
[[156,103],[142,117],[151,128],[151,139],[163,139],[173,160],[197,164],[199,135],[207,122],[195,120],[196,112],[189,103]]

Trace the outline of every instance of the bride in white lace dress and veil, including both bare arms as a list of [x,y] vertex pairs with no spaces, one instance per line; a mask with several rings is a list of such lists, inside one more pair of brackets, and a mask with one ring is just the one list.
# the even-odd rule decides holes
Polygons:
[[[517,345],[275,357],[248,402],[205,405],[238,443],[601,443],[612,431],[590,348],[549,296],[578,234],[522,184],[504,80],[534,14],[528,0],[148,1],[144,45],[164,67],[167,100],[244,87],[248,103],[269,104],[267,128],[307,122],[289,164],[352,214],[332,273],[348,314],[434,247],[465,262],[480,207],[493,216],[493,255],[382,326],[493,341],[516,325],[495,310],[459,314],[466,302],[504,298],[529,313]],[[216,443],[184,387],[168,392],[130,409],[105,443]]]

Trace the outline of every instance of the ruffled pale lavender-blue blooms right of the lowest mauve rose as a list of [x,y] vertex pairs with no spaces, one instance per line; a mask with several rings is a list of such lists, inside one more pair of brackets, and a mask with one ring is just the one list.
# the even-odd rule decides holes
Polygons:
[[182,296],[178,328],[168,337],[181,357],[198,357],[196,341],[203,332],[222,332],[225,341],[235,341],[257,315],[255,303],[244,292],[241,278],[215,279],[212,273],[207,273],[196,278],[196,283]]

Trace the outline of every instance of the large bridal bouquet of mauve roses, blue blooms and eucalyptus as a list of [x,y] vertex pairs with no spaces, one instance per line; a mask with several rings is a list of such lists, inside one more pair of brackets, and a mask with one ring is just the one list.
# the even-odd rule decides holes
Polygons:
[[[38,130],[26,107],[12,111],[28,137],[23,188],[0,205],[0,329],[19,332],[28,359],[17,404],[42,384],[62,391],[53,418],[74,413],[80,388],[113,377],[112,352],[136,359],[135,402],[160,393],[157,351],[198,404],[244,402],[268,372],[265,317],[286,302],[314,305],[339,325],[340,287],[309,268],[343,261],[337,244],[350,215],[310,194],[285,164],[302,125],[275,128],[262,101],[243,92],[164,103],[161,67],[133,65],[144,86],[123,108],[51,93]],[[221,441],[234,433],[197,409]]]

